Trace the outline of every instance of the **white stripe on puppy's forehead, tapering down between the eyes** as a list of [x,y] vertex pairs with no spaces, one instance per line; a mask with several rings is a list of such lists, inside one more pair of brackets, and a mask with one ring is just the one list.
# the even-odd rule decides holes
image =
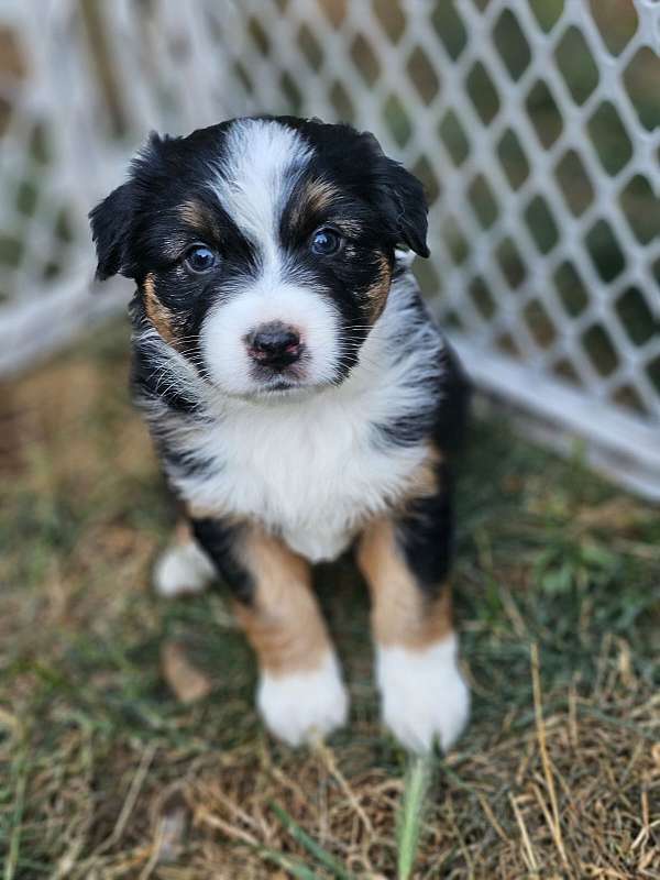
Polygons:
[[271,120],[238,120],[228,131],[212,188],[266,257],[275,256],[279,216],[311,154],[296,131]]

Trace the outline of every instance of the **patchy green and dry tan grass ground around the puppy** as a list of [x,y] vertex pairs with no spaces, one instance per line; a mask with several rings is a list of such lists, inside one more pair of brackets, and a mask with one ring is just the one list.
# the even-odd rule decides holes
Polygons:
[[[124,332],[0,389],[4,880],[394,878],[406,757],[377,723],[365,591],[349,561],[319,572],[350,728],[273,743],[223,593],[150,592],[174,510]],[[494,422],[460,495],[474,713],[411,876],[660,877],[658,510]]]

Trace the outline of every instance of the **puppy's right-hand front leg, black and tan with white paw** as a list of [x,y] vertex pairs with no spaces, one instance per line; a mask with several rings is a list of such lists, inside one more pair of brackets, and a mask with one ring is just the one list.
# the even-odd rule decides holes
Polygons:
[[359,563],[372,596],[383,719],[414,751],[448,749],[468,722],[470,692],[457,663],[449,502],[438,490],[364,532]]

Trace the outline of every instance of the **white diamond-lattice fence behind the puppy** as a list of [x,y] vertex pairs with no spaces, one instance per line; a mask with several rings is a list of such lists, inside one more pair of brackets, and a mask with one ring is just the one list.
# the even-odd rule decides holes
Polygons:
[[343,119],[425,182],[420,278],[477,384],[660,498],[659,2],[4,0],[0,14],[0,371],[117,307],[90,296],[86,213],[150,129]]

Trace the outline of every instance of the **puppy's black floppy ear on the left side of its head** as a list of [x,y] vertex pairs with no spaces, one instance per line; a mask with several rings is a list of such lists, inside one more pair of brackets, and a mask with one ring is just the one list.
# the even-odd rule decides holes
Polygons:
[[97,249],[97,278],[105,280],[125,266],[127,244],[134,213],[133,184],[122,184],[89,212]]

